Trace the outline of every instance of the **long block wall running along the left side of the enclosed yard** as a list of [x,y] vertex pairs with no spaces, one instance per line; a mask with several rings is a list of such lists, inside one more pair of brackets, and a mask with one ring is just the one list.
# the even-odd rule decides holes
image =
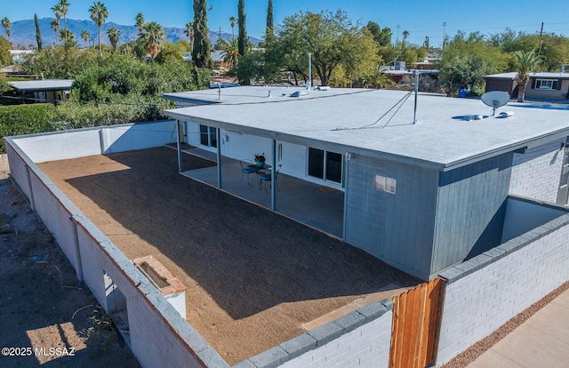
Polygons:
[[[105,276],[126,300],[132,353],[144,367],[168,362],[172,367],[228,367],[220,355],[164,299],[156,287],[26,156],[14,140],[6,140],[12,177],[36,198],[37,214],[108,310]],[[40,159],[41,160],[41,159]],[[30,180],[31,178],[31,180]]]

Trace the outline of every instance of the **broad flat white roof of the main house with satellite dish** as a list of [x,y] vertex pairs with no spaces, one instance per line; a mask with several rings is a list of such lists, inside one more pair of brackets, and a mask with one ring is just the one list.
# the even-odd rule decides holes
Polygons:
[[[333,89],[310,91],[308,96],[293,98],[281,96],[280,92],[286,89],[271,88],[273,97],[269,99],[267,90],[266,87],[229,88],[228,92],[235,91],[236,100],[164,113],[230,131],[440,171],[569,135],[569,107],[565,105],[510,102],[496,115],[501,111],[512,111],[514,115],[499,118],[491,116],[492,108],[481,100],[419,93],[418,123],[413,124],[413,95],[390,121],[390,114],[378,121],[405,98],[406,92]],[[205,94],[211,92],[215,91]],[[199,95],[188,93],[192,93],[193,99]],[[395,110],[397,107],[391,112]],[[464,116],[485,117],[467,121]]]

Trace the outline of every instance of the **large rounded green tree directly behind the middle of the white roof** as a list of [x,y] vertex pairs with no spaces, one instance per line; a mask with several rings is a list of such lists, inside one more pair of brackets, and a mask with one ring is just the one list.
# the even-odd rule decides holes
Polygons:
[[328,85],[335,68],[378,60],[377,44],[368,41],[373,41],[372,34],[352,24],[346,12],[300,12],[277,27],[276,43],[268,47],[269,60],[307,81],[307,55],[312,53],[313,70],[320,83]]

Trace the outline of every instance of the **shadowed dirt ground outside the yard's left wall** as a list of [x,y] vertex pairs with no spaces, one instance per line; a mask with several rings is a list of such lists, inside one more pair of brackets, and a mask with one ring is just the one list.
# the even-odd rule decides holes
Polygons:
[[140,366],[2,164],[0,366]]

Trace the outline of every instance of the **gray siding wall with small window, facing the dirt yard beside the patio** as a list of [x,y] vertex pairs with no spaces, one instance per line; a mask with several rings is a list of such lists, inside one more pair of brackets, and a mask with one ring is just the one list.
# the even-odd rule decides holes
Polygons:
[[[375,174],[396,179],[396,194],[373,188]],[[346,177],[346,242],[427,278],[437,181],[435,171],[354,155]]]

